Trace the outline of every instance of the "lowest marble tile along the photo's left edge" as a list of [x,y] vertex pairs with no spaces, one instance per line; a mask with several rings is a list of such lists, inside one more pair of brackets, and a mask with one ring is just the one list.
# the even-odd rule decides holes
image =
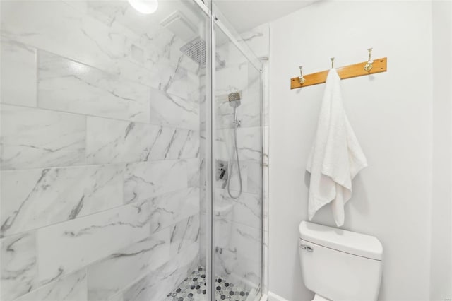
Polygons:
[[1,300],[13,300],[37,285],[35,232],[0,240]]

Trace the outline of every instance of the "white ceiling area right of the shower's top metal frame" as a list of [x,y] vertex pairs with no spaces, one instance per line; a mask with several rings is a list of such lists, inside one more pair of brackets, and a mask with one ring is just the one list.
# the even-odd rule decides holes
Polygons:
[[316,0],[213,0],[235,30],[243,33],[285,16]]

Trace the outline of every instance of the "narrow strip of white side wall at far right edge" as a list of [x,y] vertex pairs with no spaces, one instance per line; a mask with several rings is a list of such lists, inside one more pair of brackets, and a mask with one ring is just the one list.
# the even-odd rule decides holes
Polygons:
[[452,2],[434,1],[430,300],[452,297]]

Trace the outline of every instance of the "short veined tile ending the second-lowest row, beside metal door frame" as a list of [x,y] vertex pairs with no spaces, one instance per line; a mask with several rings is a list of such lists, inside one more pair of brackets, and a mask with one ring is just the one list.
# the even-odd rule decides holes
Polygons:
[[190,216],[179,221],[171,227],[171,254],[183,253],[186,248],[199,241],[200,232],[200,216]]

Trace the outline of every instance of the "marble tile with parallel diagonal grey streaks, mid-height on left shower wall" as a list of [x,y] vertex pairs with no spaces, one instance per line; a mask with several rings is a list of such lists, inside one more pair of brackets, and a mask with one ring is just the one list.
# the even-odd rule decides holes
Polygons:
[[198,157],[199,132],[88,117],[88,163],[133,163]]

